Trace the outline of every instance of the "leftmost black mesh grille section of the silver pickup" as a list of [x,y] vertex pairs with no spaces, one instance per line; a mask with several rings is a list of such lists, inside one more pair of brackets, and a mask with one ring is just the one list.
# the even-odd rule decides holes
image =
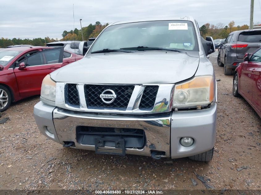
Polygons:
[[65,85],[65,102],[70,106],[80,106],[77,84]]

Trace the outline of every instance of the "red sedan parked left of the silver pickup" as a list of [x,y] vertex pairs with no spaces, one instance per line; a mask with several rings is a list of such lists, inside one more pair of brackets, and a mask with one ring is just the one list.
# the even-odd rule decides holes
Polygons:
[[0,112],[12,102],[39,95],[46,75],[83,56],[63,47],[11,47],[0,50]]

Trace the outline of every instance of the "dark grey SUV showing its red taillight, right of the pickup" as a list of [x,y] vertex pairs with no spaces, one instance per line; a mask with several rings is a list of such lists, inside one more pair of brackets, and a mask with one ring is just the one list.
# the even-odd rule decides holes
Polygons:
[[243,61],[245,53],[252,54],[261,47],[261,30],[238,30],[230,33],[220,46],[217,64],[224,66],[224,74],[231,75],[232,71]]

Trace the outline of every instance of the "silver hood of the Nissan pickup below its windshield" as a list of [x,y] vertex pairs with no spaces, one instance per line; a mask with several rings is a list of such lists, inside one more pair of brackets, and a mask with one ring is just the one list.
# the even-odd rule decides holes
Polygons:
[[72,83],[176,83],[196,73],[199,53],[193,56],[166,51],[91,54],[52,72],[51,78]]

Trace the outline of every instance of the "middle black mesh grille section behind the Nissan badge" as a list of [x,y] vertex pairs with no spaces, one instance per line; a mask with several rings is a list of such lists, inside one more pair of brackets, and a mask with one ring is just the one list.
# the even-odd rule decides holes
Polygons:
[[[104,103],[100,95],[104,90],[111,89],[116,94],[112,103]],[[110,107],[126,109],[131,98],[134,85],[84,85],[85,100],[88,108]],[[106,99],[109,101],[111,99]]]

